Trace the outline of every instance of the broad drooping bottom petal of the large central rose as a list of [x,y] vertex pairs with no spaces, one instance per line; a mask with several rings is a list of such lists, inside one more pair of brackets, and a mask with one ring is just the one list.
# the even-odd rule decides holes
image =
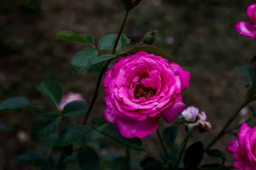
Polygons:
[[115,124],[116,128],[121,134],[126,138],[145,138],[151,135],[157,130],[159,119],[146,118],[144,121],[138,121],[136,119],[131,119],[128,117],[116,116]]

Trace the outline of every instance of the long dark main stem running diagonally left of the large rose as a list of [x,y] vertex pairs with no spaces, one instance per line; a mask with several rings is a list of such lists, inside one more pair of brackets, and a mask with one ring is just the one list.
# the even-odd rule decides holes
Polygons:
[[[113,49],[112,49],[112,51],[111,51],[111,54],[115,54],[115,52],[116,52],[116,47],[117,47],[117,44],[118,44],[119,39],[120,39],[120,37],[121,37],[122,31],[123,31],[123,29],[124,29],[124,27],[125,27],[125,23],[126,23],[128,14],[129,14],[129,11],[125,10],[125,16],[124,16],[123,21],[122,21],[122,24],[121,24],[121,26],[120,26],[119,32],[118,32],[118,34],[117,34],[117,36],[116,36],[116,41],[115,41],[115,44],[114,44]],[[97,84],[96,84],[96,88],[95,88],[95,91],[94,91],[93,99],[92,99],[92,101],[90,102],[90,105],[89,105],[89,107],[88,107],[88,110],[87,110],[87,112],[86,112],[86,114],[85,114],[85,118],[84,118],[83,125],[86,124],[86,121],[87,121],[87,119],[88,119],[88,117],[89,117],[89,115],[90,115],[90,112],[91,112],[91,110],[92,110],[92,108],[93,108],[93,105],[94,105],[94,103],[95,103],[95,101],[96,101],[96,99],[97,99],[97,96],[98,96],[98,90],[99,90],[99,86],[100,86],[100,82],[101,82],[102,76],[103,76],[103,74],[104,74],[106,68],[108,67],[108,65],[110,64],[111,61],[112,61],[112,59],[108,60],[108,62],[104,65],[104,67],[103,67],[103,68],[101,69],[101,71],[100,71],[99,78],[98,78],[98,81],[97,81]]]

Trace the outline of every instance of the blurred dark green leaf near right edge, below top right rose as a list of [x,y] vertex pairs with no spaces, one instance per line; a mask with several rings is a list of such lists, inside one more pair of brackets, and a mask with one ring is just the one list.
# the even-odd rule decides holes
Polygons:
[[247,65],[238,66],[235,68],[246,80],[249,85],[253,83],[254,68]]

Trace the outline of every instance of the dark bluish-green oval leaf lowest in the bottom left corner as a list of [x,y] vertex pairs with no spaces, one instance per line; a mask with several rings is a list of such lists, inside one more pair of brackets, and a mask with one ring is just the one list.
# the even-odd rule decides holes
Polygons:
[[21,164],[33,165],[35,167],[44,167],[47,163],[47,158],[41,153],[27,152],[17,156],[17,161]]

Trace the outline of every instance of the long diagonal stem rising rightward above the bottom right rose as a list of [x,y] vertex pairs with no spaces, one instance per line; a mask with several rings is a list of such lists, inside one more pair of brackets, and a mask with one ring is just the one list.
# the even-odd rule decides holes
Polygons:
[[241,106],[237,109],[237,111],[230,117],[230,119],[226,122],[226,124],[222,127],[221,131],[218,133],[218,135],[212,140],[212,142],[205,148],[205,150],[209,149],[212,147],[215,142],[218,141],[218,139],[221,138],[225,134],[225,130],[229,127],[229,125],[233,122],[234,119],[238,116],[239,112],[247,105],[250,103],[250,100],[246,99]]

